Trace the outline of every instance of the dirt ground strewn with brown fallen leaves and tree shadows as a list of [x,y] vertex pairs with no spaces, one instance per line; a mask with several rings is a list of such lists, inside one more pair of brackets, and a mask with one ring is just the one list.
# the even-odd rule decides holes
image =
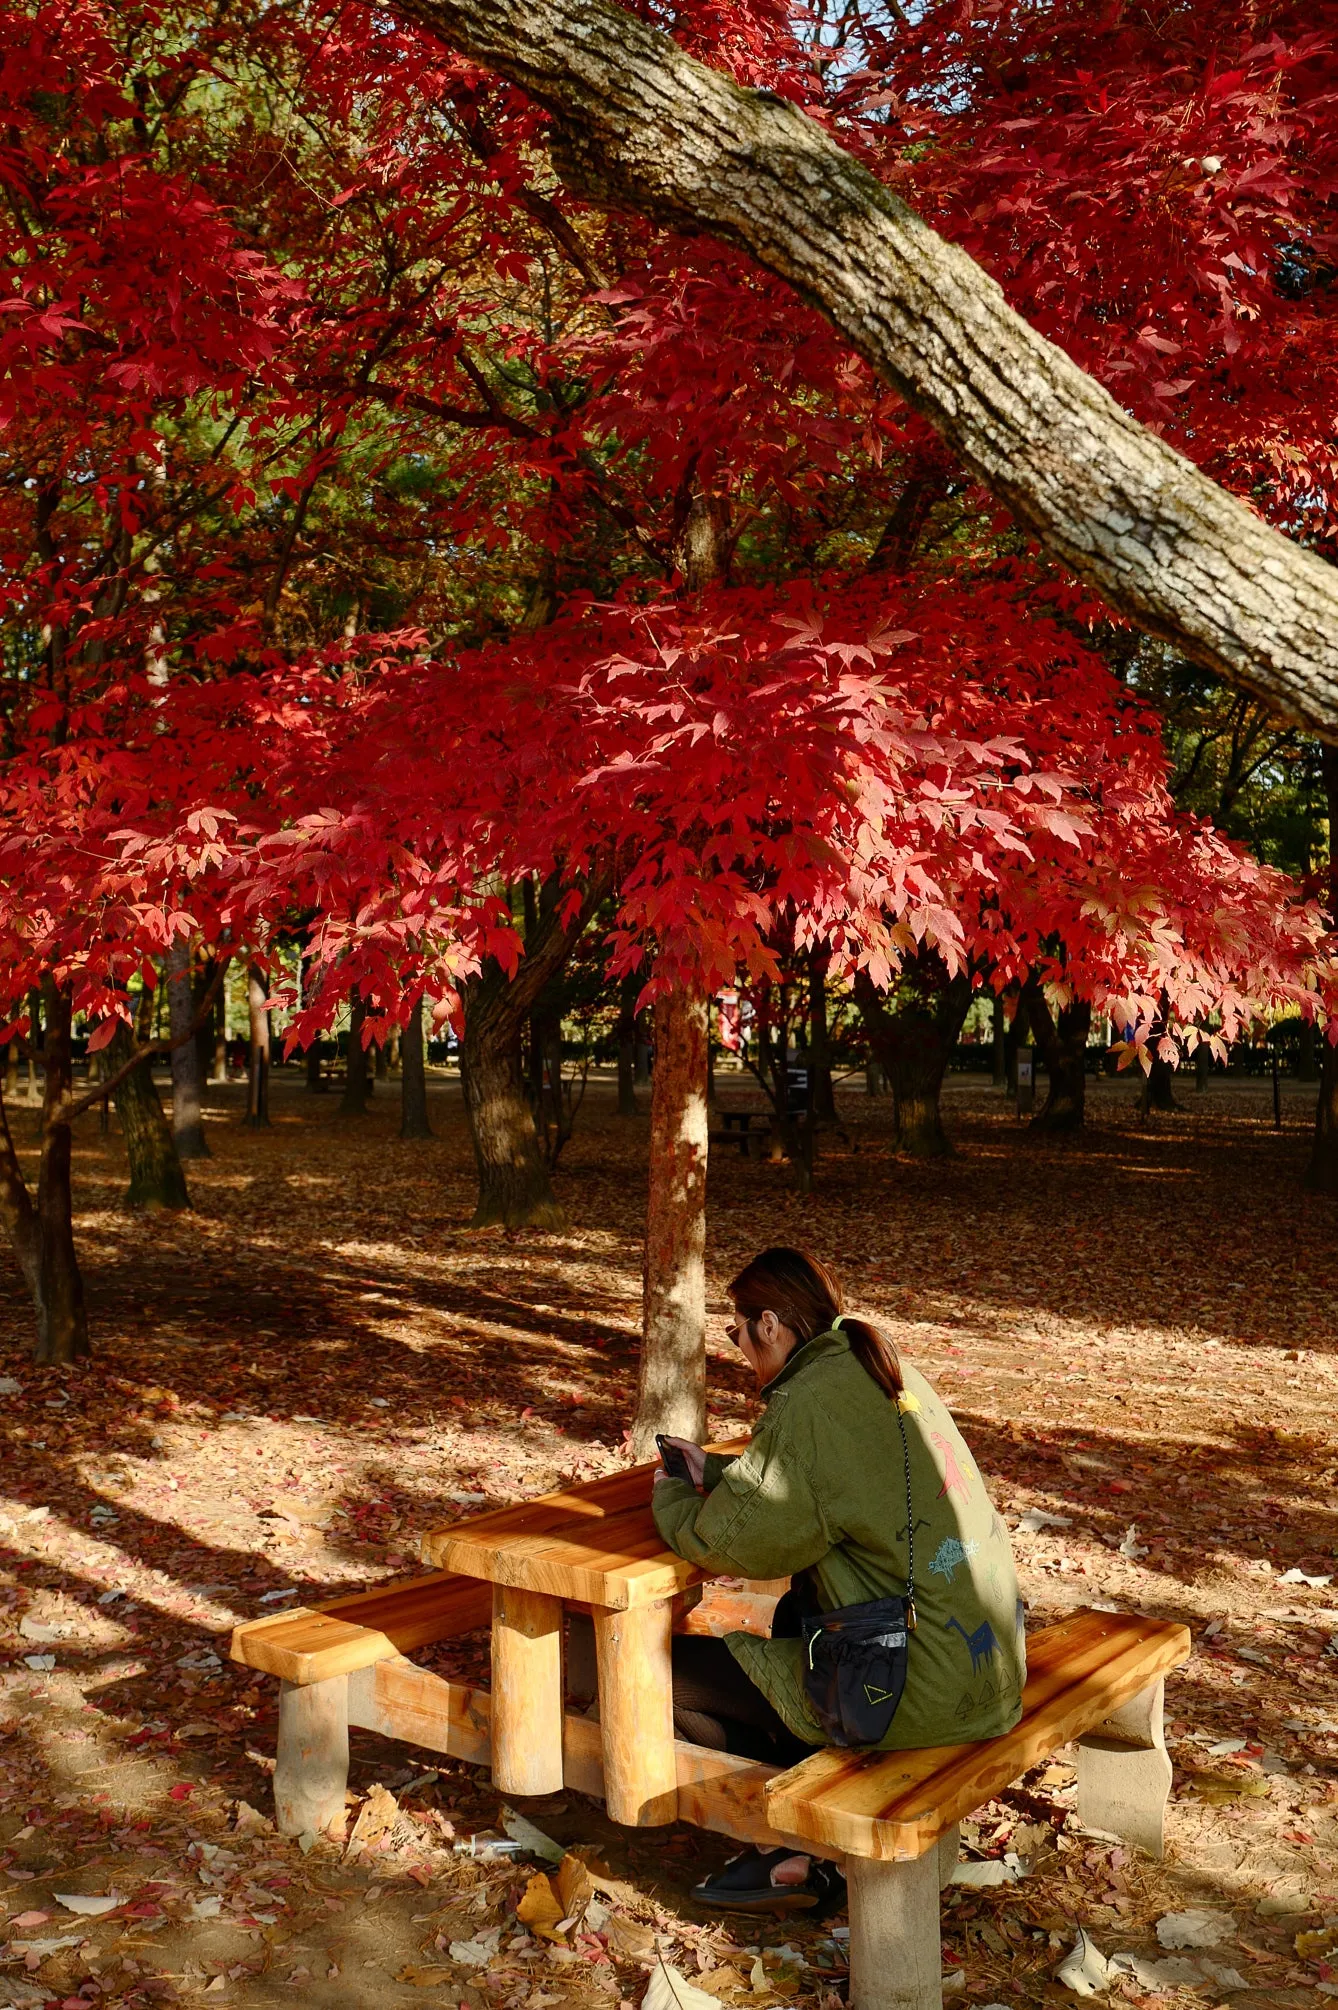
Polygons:
[[[273,1833],[275,1684],[219,1634],[625,1459],[647,1124],[593,1087],[559,1182],[573,1230],[508,1240],[462,1226],[454,1083],[422,1144],[386,1083],[348,1122],[279,1071],[265,1134],[211,1093],[215,1156],[173,1220],[121,1210],[115,1126],[84,1122],[92,1365],[30,1367],[0,1254],[0,2006],[583,2010],[639,2002],[663,1960],[723,2002],[836,2010],[844,1920],[721,1928],[687,1889],[727,1847],[685,1827],[524,1805],[595,1863],[607,1918],[571,1946],[516,1922],[534,1865],[472,1841],[502,1807],[466,1767],[354,1733],[358,1837]],[[1193,1630],[1165,1861],[1081,1833],[1071,1765],[1037,1769],[966,1827],[972,1859],[1027,1875],[946,1893],[948,2004],[1077,2002],[1055,1978],[1077,1926],[1137,1958],[1111,2000],[1338,1996],[1338,1202],[1300,1190],[1310,1091],[1282,1132],[1264,1083],[1179,1093],[1143,1128],[1103,1081],[1087,1136],[1037,1144],[954,1083],[958,1150],[932,1166],[896,1162],[888,1105],[850,1093],[808,1200],[782,1166],[711,1164],[717,1433],[753,1415],[721,1284],[802,1240],[950,1399],[1033,1624],[1095,1602]],[[1063,1520],[1019,1526],[1035,1510]],[[1211,1946],[1167,1950],[1157,1922],[1185,1909],[1215,1916]]]

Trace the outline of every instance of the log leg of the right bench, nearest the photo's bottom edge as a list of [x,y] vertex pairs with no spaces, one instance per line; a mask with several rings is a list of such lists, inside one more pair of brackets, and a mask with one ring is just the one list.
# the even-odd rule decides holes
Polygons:
[[846,1857],[850,2010],[942,2010],[938,1849],[914,1863]]

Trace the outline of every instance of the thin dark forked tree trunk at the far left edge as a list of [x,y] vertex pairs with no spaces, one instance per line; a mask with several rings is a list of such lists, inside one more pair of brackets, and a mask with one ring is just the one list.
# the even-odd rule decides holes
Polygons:
[[58,989],[46,977],[42,1005],[46,1011],[46,1087],[38,1192],[34,1202],[0,1099],[0,1220],[10,1232],[18,1268],[32,1298],[36,1317],[32,1359],[60,1363],[80,1361],[88,1353],[84,1280],[74,1250],[72,1138],[68,1122],[62,1122],[60,1116],[74,1083],[68,989]]

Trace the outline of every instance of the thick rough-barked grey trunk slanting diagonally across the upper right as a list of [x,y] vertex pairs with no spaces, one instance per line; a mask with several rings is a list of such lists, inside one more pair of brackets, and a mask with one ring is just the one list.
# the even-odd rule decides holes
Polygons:
[[796,105],[611,0],[394,0],[556,119],[579,193],[741,245],[814,301],[1111,607],[1284,718],[1338,726],[1338,577],[1009,308]]

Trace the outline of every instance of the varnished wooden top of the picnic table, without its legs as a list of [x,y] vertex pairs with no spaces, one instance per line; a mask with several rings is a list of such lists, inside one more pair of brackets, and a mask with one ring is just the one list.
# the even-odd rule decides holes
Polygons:
[[657,1463],[432,1530],[422,1540],[424,1562],[615,1612],[673,1598],[701,1584],[707,1572],[667,1550],[655,1528]]

